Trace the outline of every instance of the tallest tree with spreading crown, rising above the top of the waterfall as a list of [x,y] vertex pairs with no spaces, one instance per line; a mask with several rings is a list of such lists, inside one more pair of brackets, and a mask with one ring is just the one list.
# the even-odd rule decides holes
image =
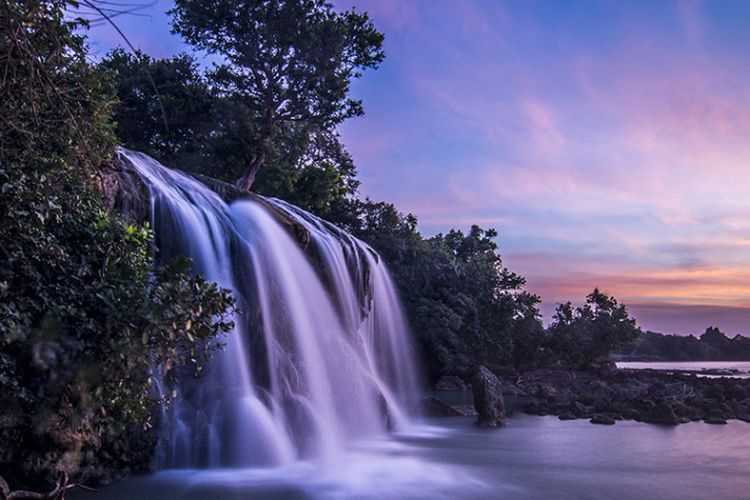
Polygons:
[[338,142],[336,126],[363,114],[351,81],[384,57],[366,13],[324,0],[177,0],[170,12],[175,32],[225,61],[210,78],[229,105],[223,133],[242,145],[241,189],[269,163],[297,166],[321,137]]

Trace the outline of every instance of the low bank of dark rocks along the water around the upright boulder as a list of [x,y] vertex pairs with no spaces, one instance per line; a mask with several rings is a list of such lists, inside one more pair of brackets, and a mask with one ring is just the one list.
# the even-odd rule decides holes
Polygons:
[[[532,415],[562,420],[588,419],[594,424],[636,420],[661,425],[691,421],[725,424],[750,422],[750,379],[702,377],[695,373],[602,368],[595,371],[541,369],[496,373],[503,397]],[[463,379],[436,384],[438,391],[468,391]],[[447,405],[439,396],[426,404],[432,416],[471,415],[466,405]],[[479,408],[477,408],[479,411]]]

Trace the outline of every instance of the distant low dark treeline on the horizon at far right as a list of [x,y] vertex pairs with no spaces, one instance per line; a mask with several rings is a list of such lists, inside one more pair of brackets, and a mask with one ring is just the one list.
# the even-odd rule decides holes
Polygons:
[[750,337],[710,327],[700,337],[647,331],[616,355],[631,361],[750,361]]

